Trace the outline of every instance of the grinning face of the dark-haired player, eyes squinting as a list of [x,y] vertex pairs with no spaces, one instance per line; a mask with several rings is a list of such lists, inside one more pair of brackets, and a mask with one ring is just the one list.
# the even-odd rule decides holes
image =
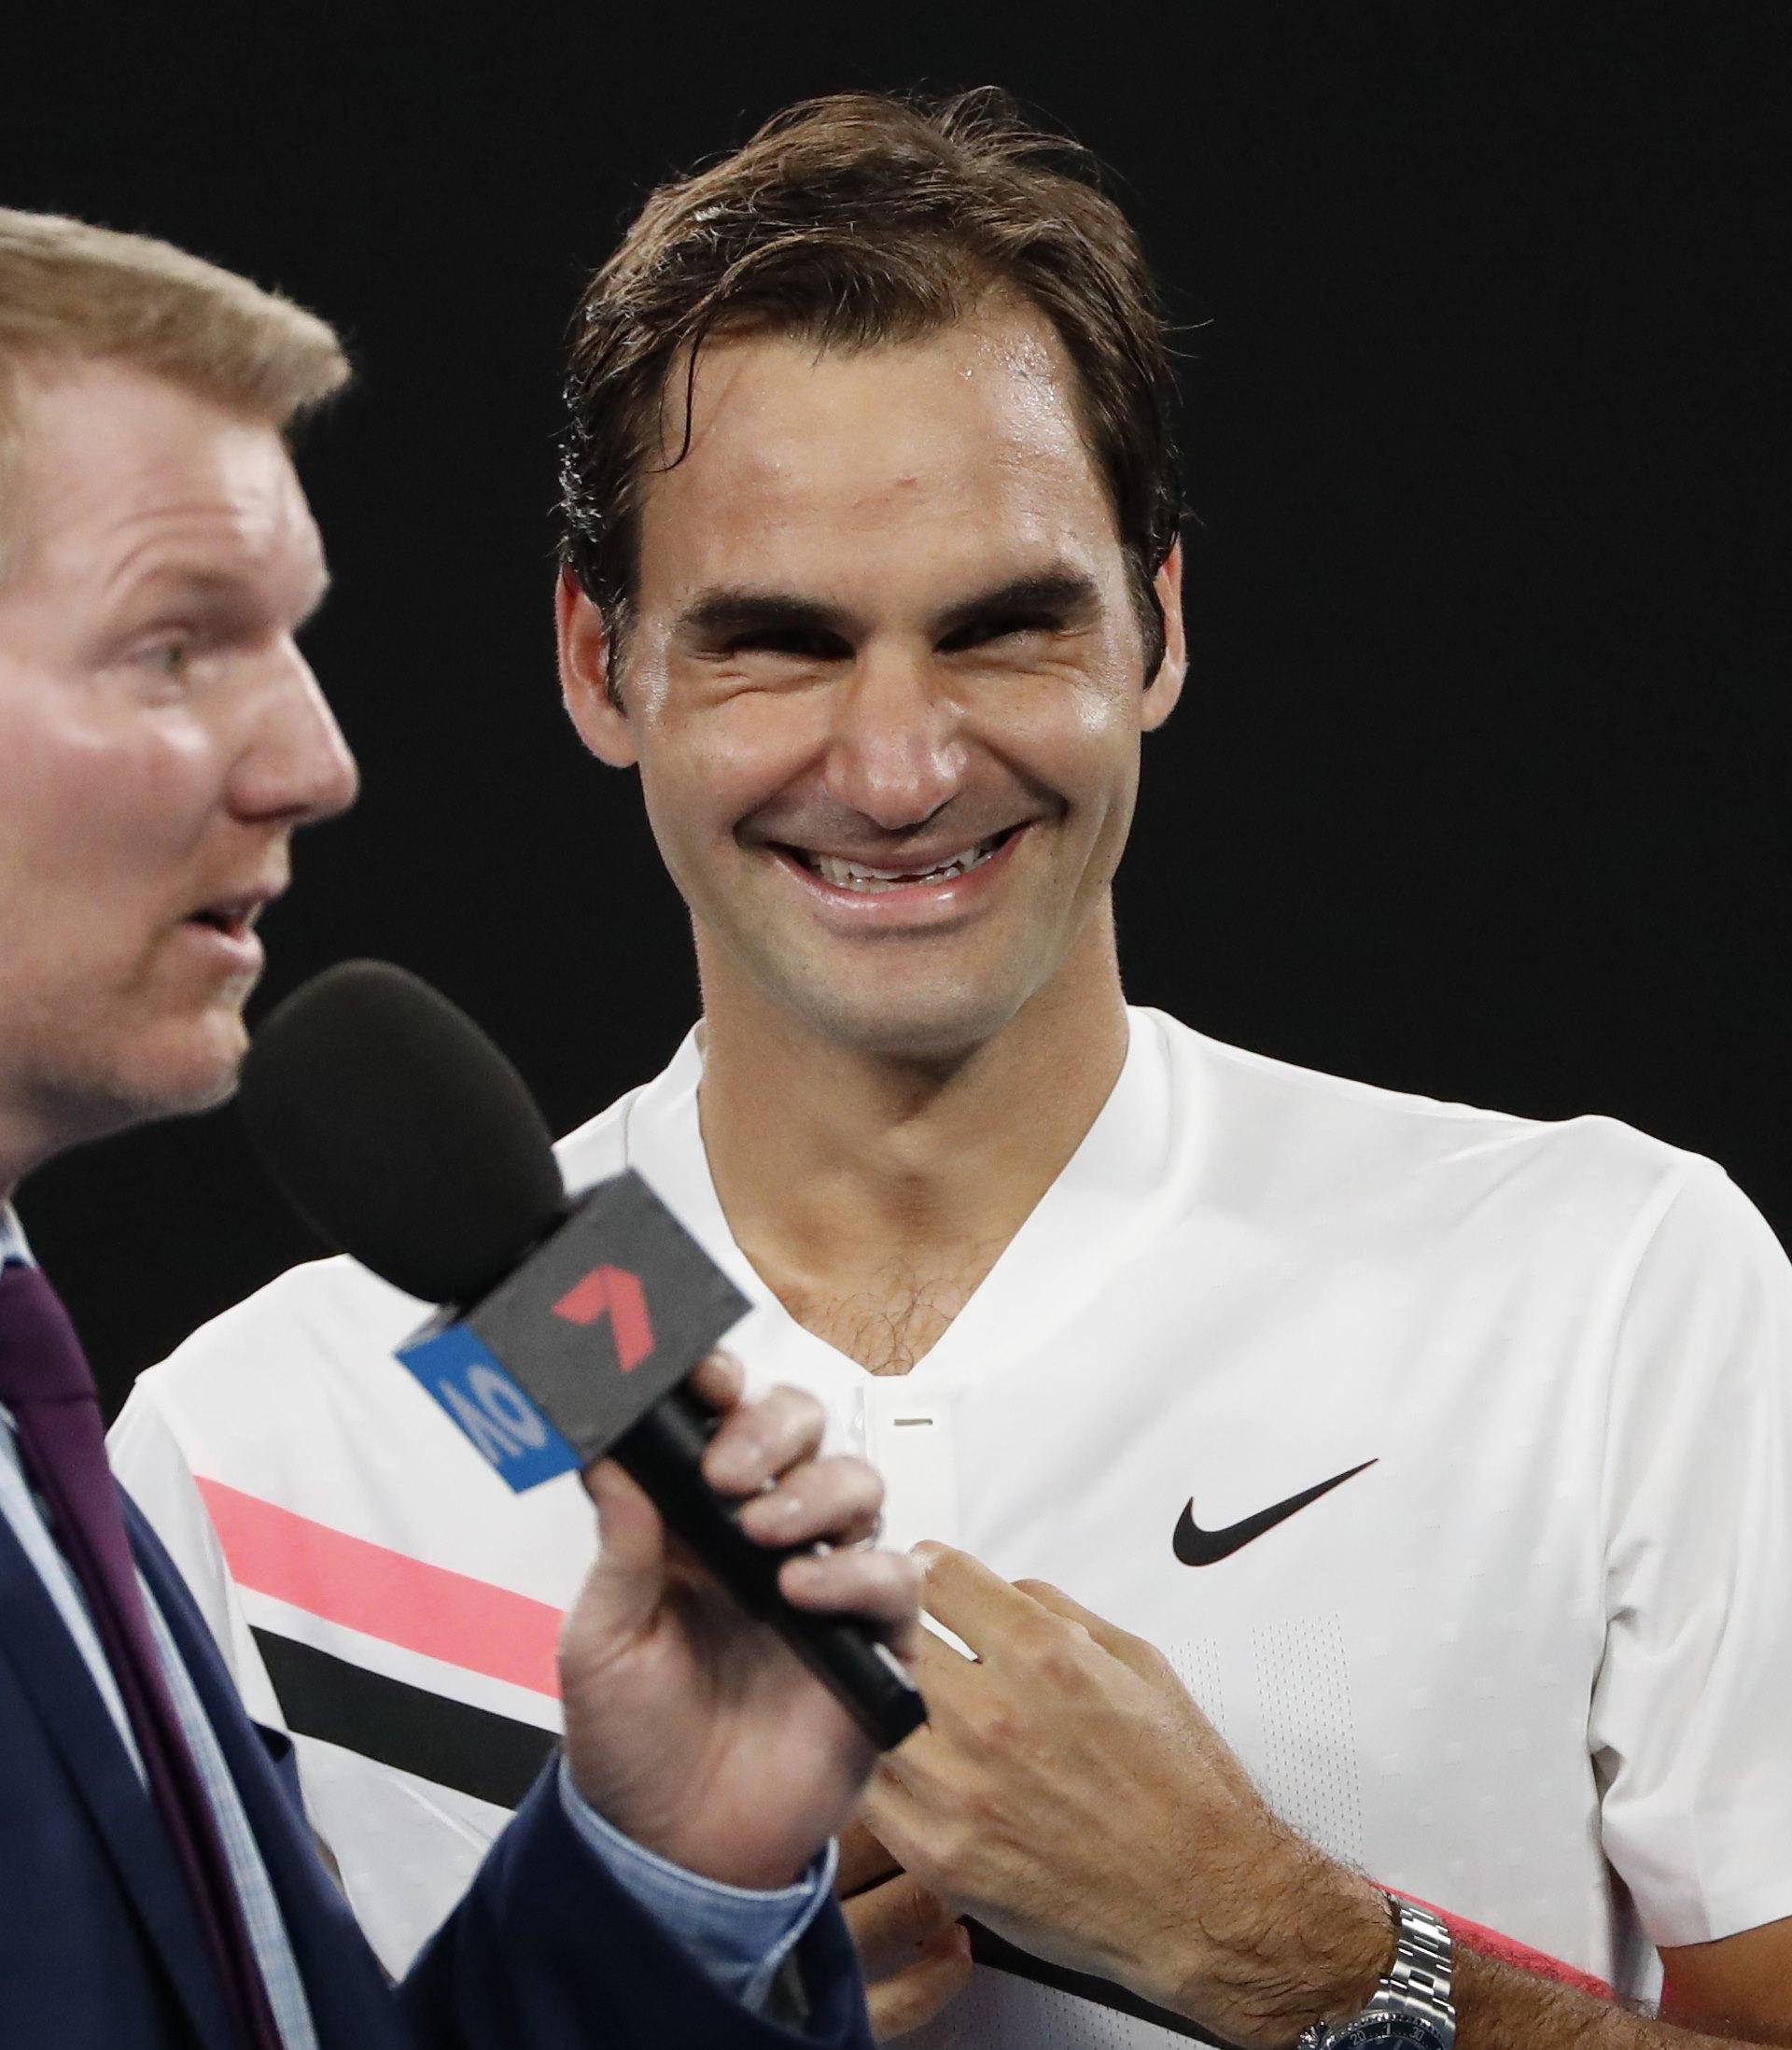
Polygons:
[[640,765],[711,1017],[769,1002],[949,1060],[1083,963],[1109,972],[1181,625],[1171,566],[1146,689],[1072,379],[1011,301],[851,355],[709,344],[689,455],[648,480],[619,703],[603,623],[562,588],[568,703]]

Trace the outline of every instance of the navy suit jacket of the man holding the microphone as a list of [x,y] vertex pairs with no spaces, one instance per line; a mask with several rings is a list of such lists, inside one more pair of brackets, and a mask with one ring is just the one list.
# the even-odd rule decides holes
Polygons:
[[[837,1909],[800,1950],[808,2032],[748,2015],[603,1872],[552,1773],[390,1988],[312,1847],[291,1742],[250,1724],[172,1560],[129,1501],[125,1517],[267,1859],[324,2050],[869,2050]],[[160,1820],[4,1517],[0,2044],[234,2050]]]

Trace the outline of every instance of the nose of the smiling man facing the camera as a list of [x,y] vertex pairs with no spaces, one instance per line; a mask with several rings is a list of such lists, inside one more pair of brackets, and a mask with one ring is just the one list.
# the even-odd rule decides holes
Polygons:
[[830,797],[890,832],[931,818],[964,783],[958,705],[925,656],[865,654],[832,695]]

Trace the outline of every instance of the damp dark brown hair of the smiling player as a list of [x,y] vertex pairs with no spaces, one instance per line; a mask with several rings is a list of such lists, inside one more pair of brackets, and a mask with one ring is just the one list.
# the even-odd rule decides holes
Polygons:
[[[1134,605],[1179,521],[1173,381],[1156,287],[1095,160],[992,88],[949,100],[849,92],[789,107],[740,150],[656,191],[597,271],[572,330],[562,562],[621,631],[646,467],[677,365],[757,326],[830,348],[955,326],[990,285],[1068,353]],[[668,375],[673,371],[673,375]],[[683,426],[683,408],[677,424]]]

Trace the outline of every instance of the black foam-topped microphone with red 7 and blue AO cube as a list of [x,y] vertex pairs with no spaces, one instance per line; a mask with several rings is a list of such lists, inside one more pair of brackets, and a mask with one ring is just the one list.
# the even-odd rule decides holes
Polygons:
[[568,1197],[527,1084],[439,990],[342,961],[262,1021],[250,1138],[322,1238],[443,1308],[398,1357],[511,1488],[611,1455],[724,1589],[888,1751],[927,1706],[865,1624],[777,1589],[699,1470],[718,1417],[681,1386],[750,1308],[636,1173]]

